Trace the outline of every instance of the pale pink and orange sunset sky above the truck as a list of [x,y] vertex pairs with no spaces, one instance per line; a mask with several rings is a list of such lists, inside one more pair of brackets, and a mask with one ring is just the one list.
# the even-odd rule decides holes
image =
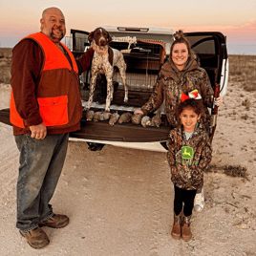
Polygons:
[[227,36],[228,52],[256,54],[256,0],[0,0],[0,46],[38,32],[42,11],[53,6],[65,15],[66,35],[97,26],[218,31]]

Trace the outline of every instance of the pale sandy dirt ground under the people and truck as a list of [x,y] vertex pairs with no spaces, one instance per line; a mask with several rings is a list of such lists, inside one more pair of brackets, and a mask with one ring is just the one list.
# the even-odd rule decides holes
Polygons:
[[[255,91],[229,83],[190,242],[170,235],[174,192],[164,153],[114,146],[91,152],[71,141],[52,200],[54,212],[71,222],[44,227],[50,245],[32,249],[15,228],[19,154],[11,126],[0,123],[0,255],[256,255],[255,98]],[[0,109],[9,106],[10,85],[0,84],[0,99]]]

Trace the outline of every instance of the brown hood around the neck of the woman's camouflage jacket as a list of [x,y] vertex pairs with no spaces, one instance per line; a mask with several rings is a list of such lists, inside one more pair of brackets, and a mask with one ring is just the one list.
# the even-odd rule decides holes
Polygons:
[[198,69],[199,67],[200,63],[195,54],[193,54],[190,61],[186,62],[185,67],[181,71],[176,67],[176,65],[173,63],[172,58],[170,57],[169,61],[163,64],[160,70],[160,74],[166,77],[172,77],[176,82],[179,82],[182,74],[188,71]]

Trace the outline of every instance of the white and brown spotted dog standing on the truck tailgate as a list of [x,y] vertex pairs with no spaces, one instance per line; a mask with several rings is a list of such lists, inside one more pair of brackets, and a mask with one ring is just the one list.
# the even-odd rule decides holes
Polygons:
[[115,66],[119,70],[124,85],[124,102],[128,101],[128,86],[125,81],[126,64],[124,62],[122,53],[120,53],[117,49],[109,47],[109,43],[112,41],[112,37],[110,33],[103,28],[97,28],[94,32],[90,32],[88,39],[89,41],[95,41],[93,45],[95,53],[91,67],[92,78],[90,83],[89,100],[85,109],[89,110],[93,103],[93,97],[96,88],[96,76],[98,73],[103,73],[106,75],[107,79],[107,98],[105,110],[109,112],[110,103],[113,99],[114,93],[112,77],[114,75]]

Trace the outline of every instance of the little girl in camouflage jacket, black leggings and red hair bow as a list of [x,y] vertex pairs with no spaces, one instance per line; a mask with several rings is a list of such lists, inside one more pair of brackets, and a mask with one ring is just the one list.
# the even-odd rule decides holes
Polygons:
[[[201,97],[197,92],[194,94]],[[184,241],[192,238],[190,219],[194,199],[197,189],[203,187],[203,169],[211,161],[212,153],[208,134],[199,125],[205,119],[202,99],[188,97],[181,95],[181,103],[176,109],[178,126],[171,130],[167,141],[167,160],[175,189],[171,234],[174,239]]]

